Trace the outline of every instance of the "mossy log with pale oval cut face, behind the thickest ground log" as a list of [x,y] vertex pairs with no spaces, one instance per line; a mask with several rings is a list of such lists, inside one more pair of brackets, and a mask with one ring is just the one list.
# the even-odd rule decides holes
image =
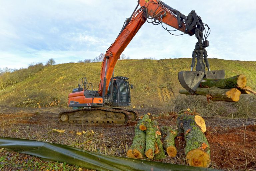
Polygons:
[[188,115],[188,114],[179,114],[177,117],[177,127],[178,135],[184,133],[184,130],[190,129],[192,126],[197,126],[199,129],[205,133],[206,125],[205,121],[201,116],[198,115]]

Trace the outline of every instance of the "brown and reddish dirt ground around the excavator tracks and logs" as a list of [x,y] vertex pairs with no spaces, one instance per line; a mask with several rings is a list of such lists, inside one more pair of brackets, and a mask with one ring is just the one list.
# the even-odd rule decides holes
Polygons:
[[[16,108],[0,105],[0,136],[25,138],[71,145],[85,150],[116,156],[126,156],[132,144],[134,125],[115,124],[67,124],[58,123],[58,113],[66,108]],[[148,112],[156,116],[159,126],[176,128],[176,115],[161,114],[160,108],[135,109],[139,115]],[[211,150],[211,168],[223,170],[256,170],[256,119],[228,119],[204,117],[207,126],[206,138]],[[65,133],[49,133],[52,129]],[[86,138],[72,134],[93,130],[95,136]],[[161,162],[186,164],[185,141],[175,140],[178,150],[175,158]]]

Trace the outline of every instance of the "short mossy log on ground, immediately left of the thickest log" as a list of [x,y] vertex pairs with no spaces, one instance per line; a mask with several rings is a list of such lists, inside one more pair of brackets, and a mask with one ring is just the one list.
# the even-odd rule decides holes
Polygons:
[[164,148],[169,157],[175,157],[177,155],[177,149],[175,147],[174,138],[177,136],[177,131],[171,127],[164,126],[161,130],[166,134],[164,138]]

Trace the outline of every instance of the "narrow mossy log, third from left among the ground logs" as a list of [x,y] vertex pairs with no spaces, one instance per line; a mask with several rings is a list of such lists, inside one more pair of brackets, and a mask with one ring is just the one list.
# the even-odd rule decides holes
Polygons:
[[157,149],[158,149],[158,153],[155,150],[155,158],[154,159],[157,159],[157,160],[165,159],[166,155],[165,155],[165,152],[164,152],[163,143],[161,141],[161,134],[159,135],[157,133],[157,132],[160,132],[159,127],[158,127],[158,123],[157,123],[156,120],[153,120],[153,121],[151,121],[151,125],[155,129],[155,132],[156,132],[156,134],[155,134],[156,135],[156,144],[157,144]]

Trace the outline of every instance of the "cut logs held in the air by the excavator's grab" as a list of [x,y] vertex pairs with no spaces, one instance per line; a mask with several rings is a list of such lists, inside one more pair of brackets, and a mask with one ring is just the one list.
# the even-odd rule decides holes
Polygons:
[[[187,90],[179,90],[180,94],[191,95]],[[254,94],[250,86],[246,86],[246,77],[243,74],[225,79],[203,79],[194,92],[195,95],[207,97],[207,101],[237,102],[241,94]]]

